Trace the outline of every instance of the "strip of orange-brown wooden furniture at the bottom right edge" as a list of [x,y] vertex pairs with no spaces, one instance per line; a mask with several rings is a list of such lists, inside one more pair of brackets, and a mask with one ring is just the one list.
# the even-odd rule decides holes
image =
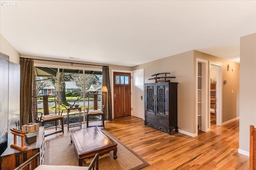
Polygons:
[[256,170],[256,128],[250,125],[249,170]]

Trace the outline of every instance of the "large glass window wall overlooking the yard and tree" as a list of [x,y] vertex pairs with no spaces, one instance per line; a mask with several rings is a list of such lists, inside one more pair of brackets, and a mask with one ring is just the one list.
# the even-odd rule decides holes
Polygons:
[[[101,93],[102,71],[39,66],[35,66],[35,70],[37,95],[57,95],[57,107],[64,110],[62,113],[64,124],[67,123],[67,108],[78,105],[82,108],[82,121],[86,121],[85,113],[88,107],[86,94]],[[42,101],[38,100],[38,106],[40,102]],[[69,123],[77,122],[78,110],[74,110],[69,113]]]

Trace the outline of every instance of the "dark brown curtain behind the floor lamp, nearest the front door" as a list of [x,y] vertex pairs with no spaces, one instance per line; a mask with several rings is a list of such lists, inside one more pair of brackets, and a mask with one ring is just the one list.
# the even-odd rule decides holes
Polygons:
[[[102,86],[106,86],[108,89],[108,119],[112,120],[112,97],[111,97],[111,87],[109,78],[109,68],[108,66],[102,67]],[[106,103],[106,101],[103,101]],[[106,115],[106,111],[105,111]],[[105,116],[106,119],[106,116]]]

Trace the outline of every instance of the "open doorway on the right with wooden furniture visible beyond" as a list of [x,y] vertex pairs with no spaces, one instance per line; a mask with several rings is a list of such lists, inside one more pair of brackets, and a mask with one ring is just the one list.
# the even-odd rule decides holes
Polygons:
[[[214,94],[216,101],[216,125],[222,125],[222,64],[210,62],[210,85],[215,84],[216,92]],[[212,87],[211,87],[212,88]],[[210,89],[211,89],[210,88]],[[211,91],[210,91],[211,94]],[[212,95],[210,95],[212,96]],[[210,98],[210,103],[212,104],[212,98]],[[212,116],[214,108],[210,107],[210,115]],[[209,120],[210,121],[210,120]]]

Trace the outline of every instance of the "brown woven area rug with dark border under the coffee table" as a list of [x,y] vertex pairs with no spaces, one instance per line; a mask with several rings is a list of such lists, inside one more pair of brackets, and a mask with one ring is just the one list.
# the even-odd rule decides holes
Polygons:
[[[117,159],[110,155],[99,160],[100,170],[140,170],[148,166],[142,157],[113,137],[108,131],[102,129],[117,145]],[[70,143],[70,137],[56,138],[46,141],[44,163],[47,165],[72,165],[78,166],[78,157],[74,145]],[[83,161],[83,166],[88,166]]]

